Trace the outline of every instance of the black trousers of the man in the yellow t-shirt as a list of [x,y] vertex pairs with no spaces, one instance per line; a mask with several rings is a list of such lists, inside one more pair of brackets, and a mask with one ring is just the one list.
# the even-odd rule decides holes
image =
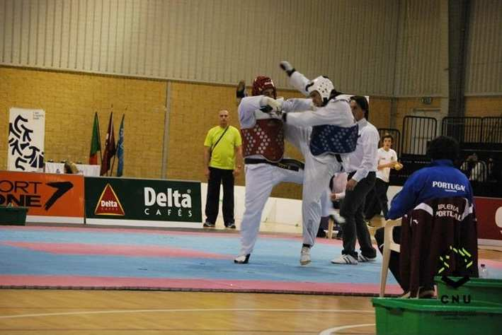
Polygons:
[[206,222],[216,222],[219,211],[219,185],[223,184],[223,221],[225,225],[230,225],[234,223],[234,170],[210,167],[209,171],[205,205]]

